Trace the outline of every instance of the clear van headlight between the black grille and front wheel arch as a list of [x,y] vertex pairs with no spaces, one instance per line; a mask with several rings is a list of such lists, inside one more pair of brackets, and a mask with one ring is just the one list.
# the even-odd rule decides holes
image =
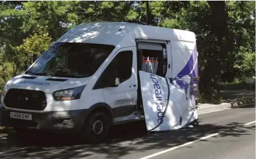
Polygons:
[[53,92],[53,98],[55,101],[71,101],[80,99],[83,90],[86,85],[81,87],[69,88],[67,90],[58,90]]

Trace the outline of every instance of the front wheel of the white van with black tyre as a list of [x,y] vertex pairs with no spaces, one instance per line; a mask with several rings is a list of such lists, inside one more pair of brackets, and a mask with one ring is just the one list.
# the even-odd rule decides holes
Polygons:
[[83,141],[89,143],[100,143],[105,140],[110,128],[110,119],[103,112],[89,115],[81,130]]

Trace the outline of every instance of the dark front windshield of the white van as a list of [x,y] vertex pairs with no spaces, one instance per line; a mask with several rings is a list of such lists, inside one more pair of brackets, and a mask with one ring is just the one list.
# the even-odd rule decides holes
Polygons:
[[90,77],[115,46],[89,43],[55,43],[25,74],[56,77]]

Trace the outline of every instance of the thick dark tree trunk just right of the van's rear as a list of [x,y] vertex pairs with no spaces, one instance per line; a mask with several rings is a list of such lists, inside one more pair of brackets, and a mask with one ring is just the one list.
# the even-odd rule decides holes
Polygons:
[[227,58],[227,40],[228,40],[228,15],[225,9],[225,1],[207,1],[211,11],[211,34],[217,39],[216,49],[208,52],[208,59],[203,79],[201,81],[202,91],[210,93],[211,88],[219,91],[220,74]]

